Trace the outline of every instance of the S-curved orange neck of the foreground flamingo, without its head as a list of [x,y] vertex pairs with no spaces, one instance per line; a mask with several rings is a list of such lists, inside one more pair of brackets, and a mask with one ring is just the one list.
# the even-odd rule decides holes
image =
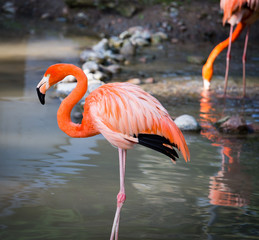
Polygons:
[[67,66],[66,75],[73,75],[77,79],[77,85],[73,91],[61,102],[57,112],[57,121],[59,128],[71,137],[85,137],[82,124],[76,124],[71,120],[71,111],[73,107],[81,100],[87,91],[87,77],[81,69]]

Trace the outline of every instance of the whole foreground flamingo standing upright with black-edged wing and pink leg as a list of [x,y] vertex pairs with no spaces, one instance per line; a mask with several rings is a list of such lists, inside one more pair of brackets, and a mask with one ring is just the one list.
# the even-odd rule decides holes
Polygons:
[[77,79],[76,88],[61,103],[57,113],[58,125],[71,137],[90,137],[102,134],[119,149],[120,192],[117,195],[117,211],[111,239],[118,238],[121,207],[126,199],[124,188],[126,150],[141,144],[159,151],[172,160],[178,157],[174,147],[190,159],[185,139],[157,99],[130,83],[105,84],[85,99],[81,124],[71,121],[70,114],[75,104],[87,90],[84,72],[71,64],[52,65],[37,86],[39,99],[44,104],[46,91],[65,76]]

